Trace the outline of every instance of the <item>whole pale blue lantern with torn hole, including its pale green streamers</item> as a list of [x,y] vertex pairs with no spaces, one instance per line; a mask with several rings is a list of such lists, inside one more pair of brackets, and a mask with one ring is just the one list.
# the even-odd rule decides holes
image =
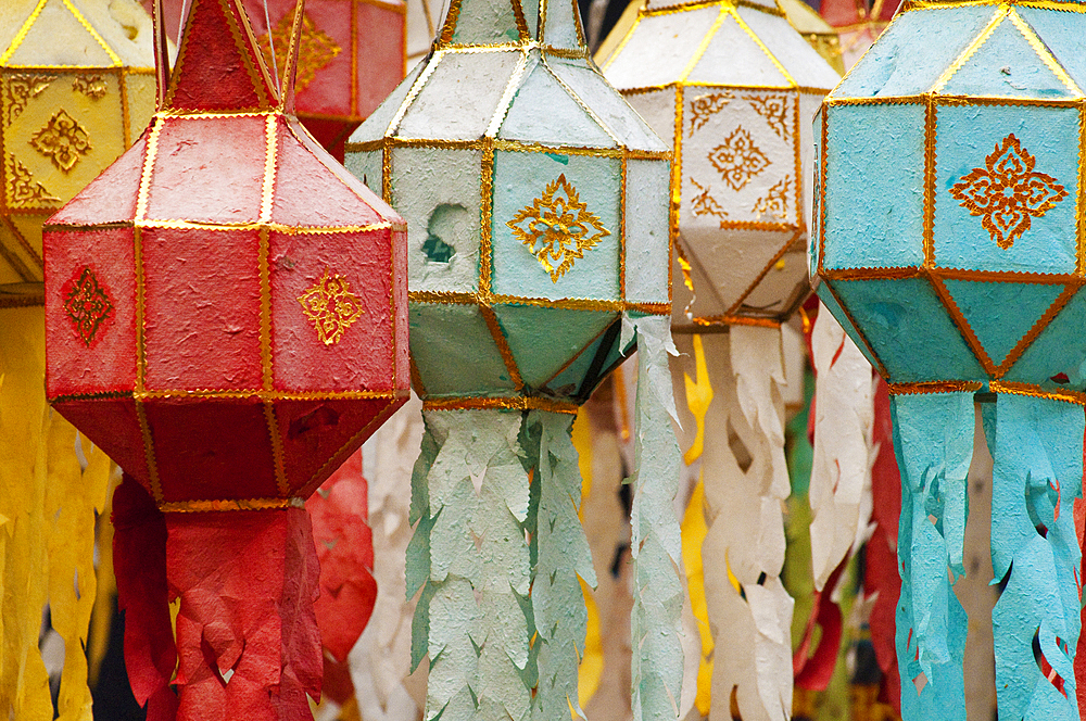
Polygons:
[[427,422],[407,581],[411,595],[421,589],[427,719],[558,718],[576,704],[578,575],[593,572],[570,425],[634,329],[633,708],[673,712],[668,160],[590,61],[572,0],[454,2],[431,54],[348,143],[348,167],[407,219]]

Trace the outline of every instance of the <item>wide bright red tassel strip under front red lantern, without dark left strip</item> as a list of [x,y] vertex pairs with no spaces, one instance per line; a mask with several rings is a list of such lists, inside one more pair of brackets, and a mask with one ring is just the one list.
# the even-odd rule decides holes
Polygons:
[[304,508],[166,514],[179,721],[310,721],[324,661]]

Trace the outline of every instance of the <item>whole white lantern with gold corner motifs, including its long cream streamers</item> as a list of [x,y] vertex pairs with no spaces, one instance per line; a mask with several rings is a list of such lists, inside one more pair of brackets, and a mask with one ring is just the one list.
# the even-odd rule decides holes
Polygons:
[[[807,118],[837,74],[775,0],[648,2],[604,73],[675,153],[672,330],[684,360],[672,369],[687,393],[711,384],[684,445],[705,476],[703,554],[725,559],[705,568],[716,650],[704,673],[715,704],[779,718],[792,698],[780,324],[809,293]],[[712,334],[692,342],[702,332]]]

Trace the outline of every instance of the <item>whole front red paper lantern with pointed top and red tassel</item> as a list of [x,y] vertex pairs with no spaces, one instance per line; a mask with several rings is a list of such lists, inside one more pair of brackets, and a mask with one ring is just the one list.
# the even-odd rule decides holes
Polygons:
[[194,0],[151,125],[47,226],[47,393],[166,511],[181,719],[308,718],[302,501],[407,395],[403,220],[293,116],[303,24],[280,96],[240,0]]

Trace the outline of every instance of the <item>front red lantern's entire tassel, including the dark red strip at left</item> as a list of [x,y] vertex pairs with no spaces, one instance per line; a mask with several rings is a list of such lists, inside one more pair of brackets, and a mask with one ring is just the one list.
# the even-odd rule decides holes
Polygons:
[[165,515],[126,478],[113,518],[125,666],[148,721],[311,720],[323,656],[307,511]]

